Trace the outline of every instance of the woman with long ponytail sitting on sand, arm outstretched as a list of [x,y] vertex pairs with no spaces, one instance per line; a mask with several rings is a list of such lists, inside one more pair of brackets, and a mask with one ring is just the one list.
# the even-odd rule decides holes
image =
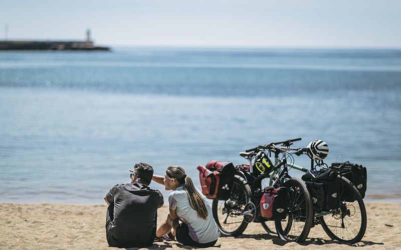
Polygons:
[[[169,233],[184,245],[210,247],[216,244],[220,232],[212,216],[209,202],[193,186],[192,179],[180,166],[169,166],[163,176],[152,178],[163,184],[168,195],[170,212],[156,231],[156,237]],[[182,223],[179,223],[179,220]]]

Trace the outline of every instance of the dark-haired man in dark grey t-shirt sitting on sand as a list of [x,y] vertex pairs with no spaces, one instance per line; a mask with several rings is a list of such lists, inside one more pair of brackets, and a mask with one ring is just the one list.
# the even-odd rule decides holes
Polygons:
[[146,247],[156,235],[157,208],[163,205],[159,190],[148,187],[153,168],[137,163],[131,172],[131,183],[117,184],[104,199],[109,204],[106,213],[106,237],[109,246]]

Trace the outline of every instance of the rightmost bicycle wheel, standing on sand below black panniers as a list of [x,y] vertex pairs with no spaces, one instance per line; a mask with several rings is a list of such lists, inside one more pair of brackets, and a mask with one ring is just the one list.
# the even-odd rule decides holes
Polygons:
[[337,209],[331,210],[332,213],[320,216],[319,219],[330,238],[353,244],[360,241],[366,231],[365,204],[358,189],[347,178],[341,176],[340,183],[344,191],[353,192],[356,200],[342,201]]

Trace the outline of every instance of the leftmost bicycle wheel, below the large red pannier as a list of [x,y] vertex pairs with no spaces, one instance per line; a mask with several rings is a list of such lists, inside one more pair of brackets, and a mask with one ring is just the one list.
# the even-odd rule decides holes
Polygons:
[[243,177],[234,175],[233,187],[231,188],[228,200],[213,200],[212,212],[217,226],[222,235],[239,236],[248,223],[244,215],[239,215],[244,211],[251,195],[251,188]]

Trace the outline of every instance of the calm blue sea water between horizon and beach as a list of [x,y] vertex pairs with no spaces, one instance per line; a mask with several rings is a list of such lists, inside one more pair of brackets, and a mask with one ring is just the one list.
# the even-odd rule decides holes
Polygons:
[[365,165],[367,199],[400,202],[400,94],[401,50],[2,51],[0,202],[103,203],[138,161],[198,185],[198,164],[295,137]]

